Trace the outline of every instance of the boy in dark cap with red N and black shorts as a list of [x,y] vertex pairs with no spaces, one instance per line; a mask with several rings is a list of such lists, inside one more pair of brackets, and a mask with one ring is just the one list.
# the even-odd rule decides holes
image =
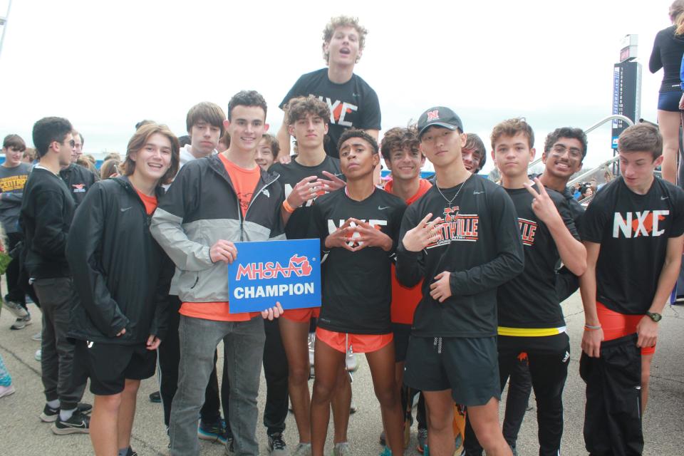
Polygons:
[[424,279],[404,382],[425,394],[431,455],[454,453],[454,402],[467,406],[488,455],[511,455],[499,427],[496,336],[497,288],[524,266],[515,209],[504,189],[465,169],[466,136],[452,110],[426,110],[418,138],[436,178],[406,209],[397,249],[399,281]]

